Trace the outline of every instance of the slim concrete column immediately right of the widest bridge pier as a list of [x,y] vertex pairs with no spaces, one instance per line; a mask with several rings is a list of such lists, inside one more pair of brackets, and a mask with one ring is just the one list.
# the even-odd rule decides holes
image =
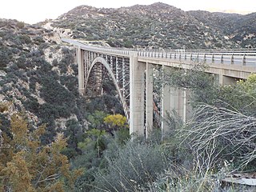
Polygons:
[[146,63],[146,138],[153,128],[153,67]]

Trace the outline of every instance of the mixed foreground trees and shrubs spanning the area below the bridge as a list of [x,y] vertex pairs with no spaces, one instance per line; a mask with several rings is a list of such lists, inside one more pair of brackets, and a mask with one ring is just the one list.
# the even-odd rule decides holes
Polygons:
[[[200,72],[186,75],[197,78],[199,84],[198,77],[211,78]],[[26,115],[14,114],[10,132],[2,133],[0,142],[2,190],[225,190],[227,186],[220,181],[227,174],[255,170],[256,75],[230,86],[210,81],[211,86],[205,88],[211,89],[205,95],[198,91],[199,84],[187,84],[187,78],[181,78],[182,85],[186,89],[190,86],[193,93],[194,115],[182,124],[171,114],[166,119],[170,131],[163,141],[157,127],[148,140],[130,140],[125,117],[97,110],[90,115],[89,130],[79,141],[68,138],[67,142],[76,143],[78,150],[70,154],[71,146],[63,135],[58,134],[54,142],[44,146],[38,138],[45,127],[29,129]],[[168,82],[182,88],[180,82]],[[2,104],[2,113],[6,113],[8,105]]]

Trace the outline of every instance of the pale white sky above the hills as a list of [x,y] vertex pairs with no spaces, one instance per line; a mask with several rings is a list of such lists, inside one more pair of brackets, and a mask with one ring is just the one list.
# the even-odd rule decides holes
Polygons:
[[150,5],[164,2],[182,10],[226,11],[239,14],[256,12],[255,0],[1,0],[0,18],[17,19],[34,24],[46,18],[58,18],[76,6],[86,5],[98,8]]

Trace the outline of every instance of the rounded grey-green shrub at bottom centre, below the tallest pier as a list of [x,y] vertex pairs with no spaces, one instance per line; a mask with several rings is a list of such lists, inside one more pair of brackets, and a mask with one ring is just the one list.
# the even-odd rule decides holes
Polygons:
[[146,190],[147,183],[167,169],[170,162],[165,152],[161,146],[127,142],[124,148],[118,148],[115,158],[105,157],[108,166],[95,174],[93,191]]

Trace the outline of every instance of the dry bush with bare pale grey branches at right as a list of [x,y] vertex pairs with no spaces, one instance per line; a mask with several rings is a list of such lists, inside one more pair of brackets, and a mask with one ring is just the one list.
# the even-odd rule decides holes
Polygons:
[[180,132],[202,170],[232,162],[234,170],[253,166],[256,158],[256,118],[221,106],[199,105]]

